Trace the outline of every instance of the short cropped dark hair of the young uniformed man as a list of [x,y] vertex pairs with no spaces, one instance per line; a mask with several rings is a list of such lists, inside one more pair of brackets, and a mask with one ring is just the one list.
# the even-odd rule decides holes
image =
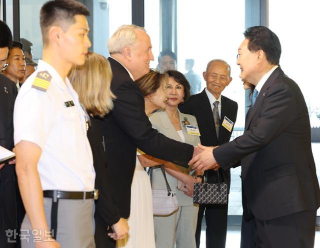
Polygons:
[[40,10],[40,27],[42,33],[42,41],[47,44],[47,29],[57,22],[65,27],[65,23],[69,26],[75,22],[74,16],[89,16],[88,8],[82,3],[75,0],[51,0],[46,2]]

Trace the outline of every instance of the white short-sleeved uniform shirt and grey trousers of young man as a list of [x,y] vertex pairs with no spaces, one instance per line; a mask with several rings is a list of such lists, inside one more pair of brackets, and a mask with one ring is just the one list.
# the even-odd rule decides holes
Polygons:
[[[32,88],[37,73],[42,71],[52,77],[46,92]],[[42,190],[92,191],[95,172],[85,114],[69,80],[64,81],[53,67],[39,60],[37,70],[24,82],[15,101],[14,144],[24,140],[41,148],[37,168]],[[74,106],[67,107],[65,102],[69,101]],[[44,198],[49,228],[51,200]],[[59,200],[56,239],[61,247],[94,247],[92,215],[93,199]],[[21,229],[30,227],[25,215]],[[80,237],[83,235],[85,240]],[[22,242],[22,247],[33,246]]]

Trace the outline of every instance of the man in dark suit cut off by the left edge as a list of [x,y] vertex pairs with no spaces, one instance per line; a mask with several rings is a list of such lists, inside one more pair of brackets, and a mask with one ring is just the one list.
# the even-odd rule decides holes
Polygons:
[[[0,71],[6,64],[12,36],[6,24],[0,21]],[[13,149],[13,105],[17,89],[11,80],[0,74],[0,146]],[[0,164],[0,247],[16,247],[17,207],[14,165]],[[11,229],[11,233],[5,230]],[[12,241],[12,242],[8,242]]]

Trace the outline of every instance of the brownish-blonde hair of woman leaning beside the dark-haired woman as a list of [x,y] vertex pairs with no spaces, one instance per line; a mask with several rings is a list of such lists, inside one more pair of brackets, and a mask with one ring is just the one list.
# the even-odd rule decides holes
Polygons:
[[167,74],[151,69],[149,73],[137,79],[135,83],[139,86],[145,97],[155,93],[160,87],[165,88],[168,80],[169,77]]

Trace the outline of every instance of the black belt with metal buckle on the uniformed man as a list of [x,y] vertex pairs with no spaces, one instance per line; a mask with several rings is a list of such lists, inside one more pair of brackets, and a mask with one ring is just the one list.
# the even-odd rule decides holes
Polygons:
[[54,198],[54,191],[57,199],[97,199],[98,191],[60,191],[60,190],[43,190],[43,197]]

